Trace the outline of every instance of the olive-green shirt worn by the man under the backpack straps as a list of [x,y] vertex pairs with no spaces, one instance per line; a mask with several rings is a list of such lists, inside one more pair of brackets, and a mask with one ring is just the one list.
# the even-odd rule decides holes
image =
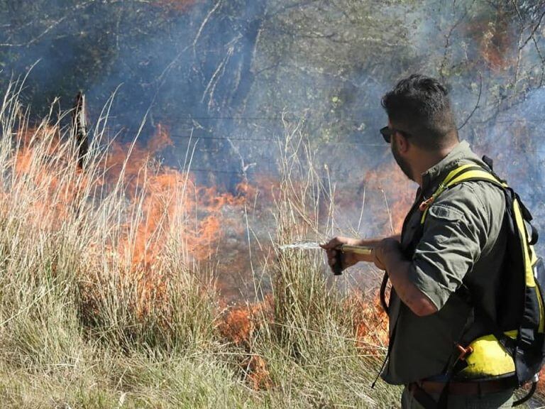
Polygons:
[[[459,165],[485,166],[465,141],[426,171],[422,188],[407,214],[402,247],[407,249],[419,230],[419,205],[435,192]],[[437,307],[418,317],[392,291],[390,296],[390,359],[382,372],[388,383],[407,384],[439,376],[461,338],[470,306],[456,292],[465,283],[483,295],[481,305],[496,317],[496,293],[507,235],[502,229],[505,198],[494,185],[462,182],[443,192],[429,207],[422,239],[412,255],[410,279]],[[486,334],[480,322],[466,332],[470,339]]]

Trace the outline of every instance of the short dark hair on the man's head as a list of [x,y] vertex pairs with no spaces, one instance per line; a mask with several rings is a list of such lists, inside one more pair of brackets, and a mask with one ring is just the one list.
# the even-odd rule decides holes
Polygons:
[[448,89],[438,80],[413,74],[382,97],[395,129],[409,133],[415,145],[438,150],[458,141]]

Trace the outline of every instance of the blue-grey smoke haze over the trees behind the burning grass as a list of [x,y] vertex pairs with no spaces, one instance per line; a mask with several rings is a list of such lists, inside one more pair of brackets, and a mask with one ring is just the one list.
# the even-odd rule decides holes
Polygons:
[[197,182],[231,192],[277,178],[277,140],[302,121],[324,184],[335,186],[336,226],[363,236],[397,229],[414,190],[378,133],[380,97],[412,72],[439,77],[462,138],[496,159],[545,227],[543,41],[532,2],[8,3],[0,81],[40,60],[26,91],[39,114],[57,96],[69,108],[82,89],[93,123],[117,89],[112,135],[130,141],[146,118],[145,143],[163,126],[174,143],[165,164],[194,148]]

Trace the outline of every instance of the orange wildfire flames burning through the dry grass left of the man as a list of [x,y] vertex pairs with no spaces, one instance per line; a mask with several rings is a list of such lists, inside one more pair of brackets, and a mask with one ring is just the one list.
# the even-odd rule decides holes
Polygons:
[[[119,208],[114,212],[119,213],[119,218],[105,222],[111,233],[102,231],[89,239],[91,245],[86,257],[91,264],[84,271],[81,284],[82,304],[87,315],[101,314],[99,302],[104,294],[94,291],[104,283],[111,283],[112,277],[118,277],[121,279],[114,280],[114,285],[121,286],[117,294],[128,290],[129,287],[123,285],[133,285],[130,290],[135,294],[128,308],[133,309],[137,322],[153,316],[158,317],[159,325],[168,327],[167,306],[172,303],[168,299],[168,288],[174,277],[170,275],[176,268],[165,263],[175,260],[187,269],[190,263],[207,261],[219,246],[225,246],[222,241],[226,230],[246,233],[241,220],[233,215],[240,217],[246,205],[255,207],[258,197],[265,202],[275,198],[279,182],[272,179],[264,178],[255,185],[241,182],[236,194],[198,185],[191,173],[160,166],[154,160],[154,156],[169,146],[172,141],[168,130],[158,126],[145,145],[112,143],[98,164],[103,172],[88,174],[88,170],[81,170],[77,165],[74,144],[63,141],[54,127],[29,130],[18,137],[11,187],[22,183],[28,187],[24,192],[39,192],[29,205],[35,209],[31,218],[39,229],[55,231],[68,217],[77,217],[82,206],[87,205],[89,210],[100,207],[101,203],[82,203],[82,190],[97,187],[115,192],[121,186],[117,195],[122,200],[115,202]],[[384,170],[380,174],[390,173]],[[373,182],[373,178],[371,180]],[[393,183],[388,186],[388,195],[398,193]],[[6,186],[1,195],[17,192]],[[239,239],[236,246],[242,243],[246,242]],[[176,257],[173,258],[173,254]],[[229,268],[243,267],[233,261]],[[376,353],[376,346],[385,344],[383,313],[375,303],[369,305],[358,294],[347,301],[347,308],[348,305],[351,312],[357,311],[353,317],[356,345]],[[221,337],[241,351],[238,367],[245,381],[256,390],[273,385],[266,359],[255,351],[258,329],[274,321],[273,310],[269,295],[263,302],[226,310],[217,327]]]

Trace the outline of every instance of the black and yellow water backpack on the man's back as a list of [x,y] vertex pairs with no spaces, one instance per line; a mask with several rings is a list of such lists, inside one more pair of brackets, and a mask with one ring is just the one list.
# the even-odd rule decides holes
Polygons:
[[[488,378],[508,378],[514,388],[532,382],[528,395],[513,403],[513,406],[520,405],[534,393],[539,371],[544,364],[545,302],[542,290],[545,288],[545,267],[534,250],[538,234],[531,224],[532,214],[519,195],[493,172],[492,160],[486,157],[483,160],[488,168],[469,164],[452,170],[419,208],[422,212],[420,227],[423,231],[426,215],[436,198],[459,183],[490,182],[499,187],[505,196],[502,229],[507,231],[507,249],[500,276],[502,285],[498,299],[502,301],[497,306],[497,320],[493,320],[482,307],[480,295],[470,286],[462,285],[461,293],[466,293],[473,314],[480,318],[488,334],[473,340],[463,340],[462,335],[456,343],[458,351],[453,353],[446,366],[444,375],[447,381],[438,407],[446,406],[451,377],[471,371],[488,373]],[[380,291],[384,306],[386,283],[387,275]]]

